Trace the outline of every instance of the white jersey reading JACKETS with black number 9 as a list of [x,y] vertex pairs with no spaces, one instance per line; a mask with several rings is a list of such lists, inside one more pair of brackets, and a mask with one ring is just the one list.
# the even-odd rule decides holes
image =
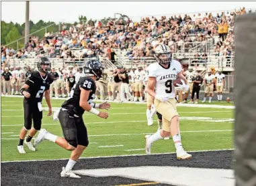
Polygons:
[[175,98],[173,80],[177,79],[179,72],[181,72],[181,64],[176,60],[171,61],[171,66],[168,69],[163,68],[157,62],[148,66],[148,77],[155,77],[157,79],[156,94]]

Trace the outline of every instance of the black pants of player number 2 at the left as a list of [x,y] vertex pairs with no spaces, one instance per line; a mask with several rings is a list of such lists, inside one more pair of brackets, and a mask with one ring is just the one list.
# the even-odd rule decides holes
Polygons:
[[41,129],[42,125],[42,111],[38,109],[38,102],[36,100],[27,100],[24,98],[24,127],[26,130],[30,130],[33,125],[36,130]]

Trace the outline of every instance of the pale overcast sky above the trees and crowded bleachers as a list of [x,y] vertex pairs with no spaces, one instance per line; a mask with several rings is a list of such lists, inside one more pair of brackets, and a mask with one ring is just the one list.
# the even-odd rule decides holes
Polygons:
[[[73,23],[79,15],[87,19],[113,17],[114,13],[128,15],[132,21],[149,15],[171,15],[175,13],[194,13],[218,10],[233,10],[245,7],[256,9],[253,1],[30,1],[30,20],[40,19]],[[1,20],[22,24],[25,22],[25,1],[1,1]]]

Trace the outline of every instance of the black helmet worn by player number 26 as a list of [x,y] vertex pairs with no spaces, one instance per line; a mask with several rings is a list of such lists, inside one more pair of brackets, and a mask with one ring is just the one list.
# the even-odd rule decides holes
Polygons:
[[83,66],[85,76],[96,76],[97,80],[102,78],[103,69],[101,62],[98,60],[89,60],[88,62],[85,62]]

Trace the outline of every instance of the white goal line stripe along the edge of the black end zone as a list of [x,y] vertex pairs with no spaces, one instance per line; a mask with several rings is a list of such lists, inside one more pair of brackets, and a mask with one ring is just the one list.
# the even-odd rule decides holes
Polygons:
[[[234,149],[218,149],[218,150],[206,150],[206,151],[187,151],[187,153],[204,153],[204,152],[218,152],[218,151],[234,151]],[[142,157],[142,156],[152,156],[152,155],[173,155],[172,153],[151,153],[150,155],[115,155],[115,156],[103,156],[103,157],[80,157],[79,159],[102,159],[102,158],[113,158],[113,157]],[[30,161],[59,161],[59,160],[68,160],[68,159],[35,159],[35,160],[24,160],[24,161],[1,161],[1,163],[13,163],[13,162],[30,162]]]

